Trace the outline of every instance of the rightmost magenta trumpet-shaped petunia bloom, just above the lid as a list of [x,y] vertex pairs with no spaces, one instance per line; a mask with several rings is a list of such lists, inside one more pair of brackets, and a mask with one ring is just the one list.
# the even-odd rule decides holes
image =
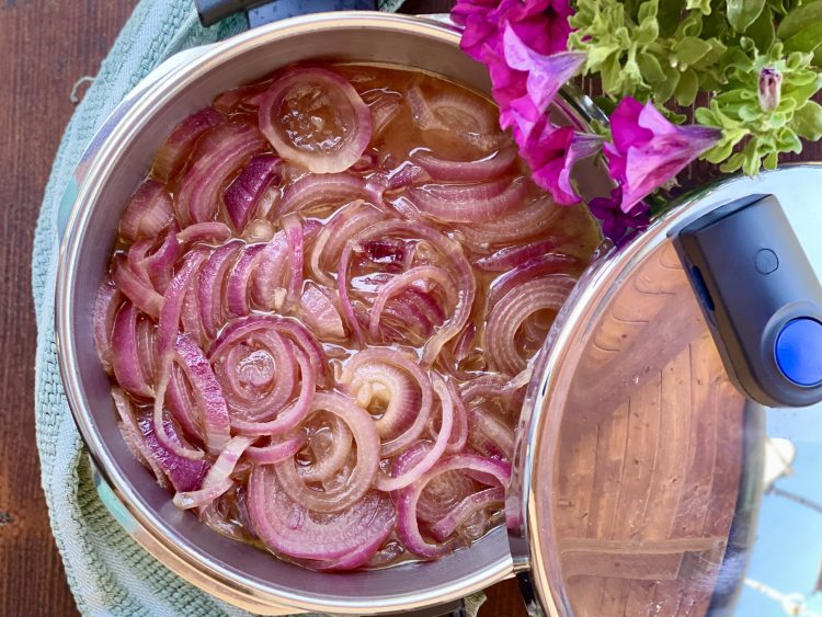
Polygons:
[[631,207],[673,180],[720,138],[718,128],[676,126],[653,104],[627,96],[610,116],[613,144],[605,144],[610,176],[623,187],[621,208]]

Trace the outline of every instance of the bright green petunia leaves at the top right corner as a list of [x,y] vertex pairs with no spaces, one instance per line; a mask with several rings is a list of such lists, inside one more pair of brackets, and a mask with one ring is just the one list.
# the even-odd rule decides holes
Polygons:
[[[569,46],[587,54],[605,107],[652,101],[669,118],[722,130],[704,159],[755,174],[822,138],[822,0],[576,0]],[[763,108],[760,71],[781,76],[779,103]],[[699,96],[699,93],[708,96]],[[707,102],[709,101],[709,102]]]

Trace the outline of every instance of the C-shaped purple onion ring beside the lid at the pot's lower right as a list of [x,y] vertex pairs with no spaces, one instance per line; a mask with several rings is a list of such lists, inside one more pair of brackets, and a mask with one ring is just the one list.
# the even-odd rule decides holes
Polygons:
[[479,472],[482,477],[492,477],[502,487],[505,487],[511,478],[511,466],[506,462],[470,454],[458,454],[442,459],[414,484],[395,494],[398,519],[397,535],[408,550],[420,557],[436,559],[448,555],[459,546],[461,541],[459,538],[441,545],[432,545],[425,541],[416,522],[416,504],[425,485],[437,475],[447,471],[468,470]]

